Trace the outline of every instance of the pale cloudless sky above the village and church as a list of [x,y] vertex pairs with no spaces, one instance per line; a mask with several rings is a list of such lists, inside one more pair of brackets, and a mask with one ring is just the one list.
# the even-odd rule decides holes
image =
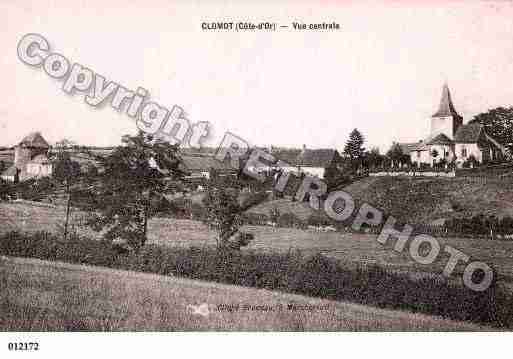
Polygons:
[[[107,4],[108,3],[108,4]],[[513,4],[444,1],[0,2],[0,146],[31,131],[49,142],[120,143],[134,120],[22,63],[17,45],[43,35],[51,51],[151,101],[254,145],[336,148],[358,128],[368,148],[429,132],[447,82],[464,122],[513,105]],[[276,32],[203,31],[202,22],[269,21]],[[293,21],[337,22],[297,31]]]

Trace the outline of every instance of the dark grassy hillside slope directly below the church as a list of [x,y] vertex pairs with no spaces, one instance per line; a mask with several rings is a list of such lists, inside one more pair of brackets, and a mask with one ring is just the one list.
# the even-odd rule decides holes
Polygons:
[[443,223],[476,214],[513,217],[513,180],[369,177],[344,189],[407,223]]

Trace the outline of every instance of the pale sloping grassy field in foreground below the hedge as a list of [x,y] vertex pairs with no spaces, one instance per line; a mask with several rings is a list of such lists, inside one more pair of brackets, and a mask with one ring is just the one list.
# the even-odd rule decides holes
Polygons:
[[[223,311],[219,310],[220,305],[239,305],[239,309]],[[243,310],[245,305],[250,309]],[[298,310],[288,309],[289,305],[295,305]],[[308,308],[306,305],[312,307],[304,310]],[[0,330],[446,331],[489,328],[262,289],[2,257]]]

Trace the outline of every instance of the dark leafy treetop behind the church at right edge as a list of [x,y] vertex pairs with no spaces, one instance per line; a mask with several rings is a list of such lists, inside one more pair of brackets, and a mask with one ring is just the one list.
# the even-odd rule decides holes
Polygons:
[[486,133],[513,152],[513,106],[497,107],[480,113],[469,122],[480,123]]

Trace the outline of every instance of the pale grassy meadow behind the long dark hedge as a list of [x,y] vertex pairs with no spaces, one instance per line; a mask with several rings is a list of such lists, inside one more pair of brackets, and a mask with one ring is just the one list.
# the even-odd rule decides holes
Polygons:
[[[0,232],[21,230],[34,232],[59,230],[56,223],[63,222],[64,210],[35,207],[26,204],[0,203]],[[441,254],[431,265],[415,263],[407,250],[398,254],[390,245],[382,246],[375,235],[354,233],[320,233],[291,228],[273,228],[266,226],[246,226],[244,230],[254,233],[255,239],[249,249],[263,251],[288,251],[300,249],[306,254],[321,252],[345,262],[378,264],[399,271],[442,272],[448,260],[447,254]],[[82,230],[81,230],[82,231]],[[84,234],[97,235],[86,230]],[[149,223],[149,243],[170,246],[214,245],[215,232],[204,224],[191,220],[154,218]],[[474,260],[492,265],[499,275],[508,282],[513,282],[513,241],[490,241],[486,239],[440,238],[440,244],[457,248]],[[456,268],[461,273],[463,265]]]

